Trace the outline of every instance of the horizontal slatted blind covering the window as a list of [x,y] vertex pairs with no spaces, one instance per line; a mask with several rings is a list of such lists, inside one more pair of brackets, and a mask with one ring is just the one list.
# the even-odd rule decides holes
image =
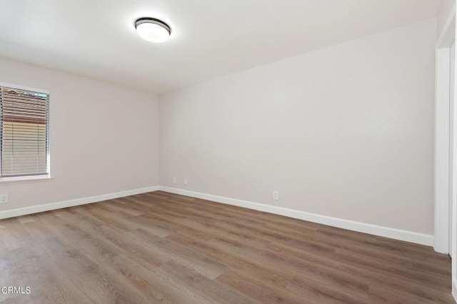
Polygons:
[[49,176],[49,94],[0,86],[0,178]]

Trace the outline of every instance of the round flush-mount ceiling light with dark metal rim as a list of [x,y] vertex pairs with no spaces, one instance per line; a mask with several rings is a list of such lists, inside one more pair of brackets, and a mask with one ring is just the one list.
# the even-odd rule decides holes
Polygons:
[[140,18],[135,21],[135,29],[142,39],[151,42],[169,40],[171,29],[164,21],[154,18]]

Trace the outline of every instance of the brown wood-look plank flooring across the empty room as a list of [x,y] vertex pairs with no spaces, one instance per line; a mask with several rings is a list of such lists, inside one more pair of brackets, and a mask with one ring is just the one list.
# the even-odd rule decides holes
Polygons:
[[0,221],[1,303],[454,303],[432,248],[161,191]]

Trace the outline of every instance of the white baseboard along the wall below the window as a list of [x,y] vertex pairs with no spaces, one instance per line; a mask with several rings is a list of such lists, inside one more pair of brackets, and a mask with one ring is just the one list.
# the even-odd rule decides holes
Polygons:
[[50,211],[60,208],[67,208],[71,206],[84,205],[86,203],[96,203],[99,201],[111,200],[113,198],[121,198],[124,196],[134,196],[140,193],[151,191],[158,191],[159,186],[151,186],[146,188],[133,189],[128,191],[121,191],[116,193],[102,194],[101,196],[89,196],[88,198],[77,198],[76,200],[61,201],[56,203],[46,203],[44,205],[37,205],[25,208],[17,208],[6,211],[0,211],[1,218],[13,218],[14,216],[25,216],[26,214],[39,213],[43,211]]

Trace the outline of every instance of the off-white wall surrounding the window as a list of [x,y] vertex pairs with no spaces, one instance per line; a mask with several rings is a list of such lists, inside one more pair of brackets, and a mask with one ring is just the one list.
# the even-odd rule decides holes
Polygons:
[[0,59],[0,81],[50,93],[53,181],[1,184],[0,211],[158,185],[153,93]]

